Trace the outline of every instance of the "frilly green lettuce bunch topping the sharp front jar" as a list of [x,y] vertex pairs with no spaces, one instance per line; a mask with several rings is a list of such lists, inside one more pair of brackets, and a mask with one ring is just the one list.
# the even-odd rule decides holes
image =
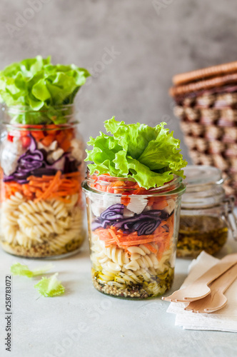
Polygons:
[[187,162],[180,154],[180,141],[173,138],[173,131],[164,129],[166,123],[154,128],[145,124],[125,124],[114,117],[105,121],[107,132],[87,143],[94,146],[86,150],[85,161],[91,174],[110,174],[117,177],[133,178],[146,189],[163,186],[173,175],[183,176]]

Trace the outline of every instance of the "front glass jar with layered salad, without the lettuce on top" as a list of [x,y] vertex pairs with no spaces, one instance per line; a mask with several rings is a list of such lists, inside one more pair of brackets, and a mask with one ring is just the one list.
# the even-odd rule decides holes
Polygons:
[[131,178],[87,174],[82,187],[95,288],[120,298],[165,293],[173,282],[181,178],[146,190]]

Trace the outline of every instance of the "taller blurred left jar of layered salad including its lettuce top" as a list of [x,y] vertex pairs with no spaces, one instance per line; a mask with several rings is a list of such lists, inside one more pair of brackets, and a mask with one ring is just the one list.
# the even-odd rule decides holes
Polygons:
[[84,241],[84,144],[73,101],[87,76],[41,56],[0,72],[0,240],[9,253],[59,257]]

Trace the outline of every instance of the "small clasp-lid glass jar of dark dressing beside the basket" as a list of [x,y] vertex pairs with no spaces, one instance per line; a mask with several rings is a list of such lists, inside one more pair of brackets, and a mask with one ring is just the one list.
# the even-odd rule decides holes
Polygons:
[[234,198],[226,197],[221,171],[213,166],[186,166],[177,257],[214,254],[226,243],[228,231],[237,238]]

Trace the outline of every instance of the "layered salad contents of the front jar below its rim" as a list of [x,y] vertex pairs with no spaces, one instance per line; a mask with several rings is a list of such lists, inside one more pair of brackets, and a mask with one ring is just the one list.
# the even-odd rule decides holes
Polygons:
[[176,200],[135,195],[124,203],[96,200],[87,199],[95,288],[121,298],[165,293],[173,282]]

